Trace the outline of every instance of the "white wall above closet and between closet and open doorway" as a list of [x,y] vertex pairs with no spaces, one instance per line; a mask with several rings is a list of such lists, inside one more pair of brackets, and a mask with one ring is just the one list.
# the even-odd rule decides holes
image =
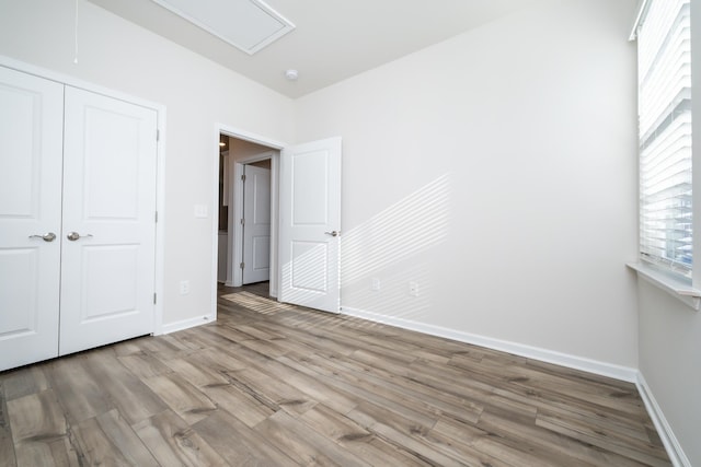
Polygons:
[[[161,300],[164,325],[177,327],[211,311],[216,237],[211,218],[195,219],[193,210],[217,210],[215,125],[290,141],[292,102],[92,3],[78,4],[78,65],[73,0],[0,0],[0,55],[166,106]],[[188,295],[179,294],[181,279],[191,281]]]

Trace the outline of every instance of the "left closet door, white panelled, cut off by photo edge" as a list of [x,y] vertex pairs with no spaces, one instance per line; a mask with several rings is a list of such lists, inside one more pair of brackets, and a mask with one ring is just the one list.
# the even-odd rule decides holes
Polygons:
[[0,371],[58,354],[64,85],[0,68]]

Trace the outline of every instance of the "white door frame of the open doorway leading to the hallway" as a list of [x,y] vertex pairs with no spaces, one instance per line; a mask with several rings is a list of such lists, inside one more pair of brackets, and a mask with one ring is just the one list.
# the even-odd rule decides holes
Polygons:
[[[256,162],[256,161],[262,161],[265,159],[271,159],[271,296],[275,296],[277,297],[277,285],[278,285],[278,271],[279,271],[279,264],[278,264],[278,256],[277,256],[277,242],[278,242],[278,215],[279,215],[279,209],[278,209],[278,198],[279,198],[279,152],[283,150],[283,148],[285,148],[287,144],[280,141],[277,141],[275,139],[272,138],[267,138],[261,135],[256,135],[246,130],[243,130],[241,128],[237,128],[237,127],[231,127],[229,125],[226,124],[221,124],[221,122],[217,122],[215,124],[215,129],[214,129],[214,136],[211,138],[212,141],[212,157],[214,157],[214,164],[212,164],[212,187],[218,187],[219,186],[219,136],[220,135],[226,135],[230,138],[235,138],[235,139],[240,139],[240,140],[244,140],[244,141],[249,141],[249,142],[253,142],[256,144],[261,144],[261,145],[265,145],[267,148],[271,148],[271,150],[273,151],[273,153],[271,152],[265,152],[262,154],[257,154],[257,155],[253,155],[253,156],[249,156],[249,157],[244,157],[241,161],[238,161],[233,164],[229,164],[229,170],[232,171],[231,175],[233,179],[233,189],[229,190],[229,196],[233,199],[229,199],[228,205],[229,205],[229,225],[228,225],[228,231],[229,231],[229,240],[228,240],[228,245],[229,245],[229,260],[227,262],[229,262],[229,265],[227,266],[227,285],[230,287],[240,287],[242,283],[242,275],[241,275],[241,270],[239,269],[238,271],[238,282],[235,280],[235,269],[233,265],[235,265],[237,262],[237,257],[235,255],[239,255],[239,258],[241,257],[241,252],[237,252],[235,249],[233,249],[233,255],[231,254],[232,249],[234,248],[234,238],[232,238],[231,232],[234,233],[233,236],[241,236],[241,229],[235,229],[234,227],[234,219],[235,215],[239,215],[238,219],[241,218],[241,215],[243,214],[243,205],[240,205],[239,210],[237,210],[237,202],[240,202],[241,200],[241,195],[243,192],[243,184],[241,184],[241,174],[243,173],[243,165],[246,163],[252,163],[252,162]],[[217,270],[218,270],[218,252],[219,252],[219,210],[217,209],[217,206],[219,206],[219,190],[218,189],[214,189],[212,190],[212,212],[215,212],[215,215],[212,215],[212,222],[211,222],[211,238],[212,238],[212,250],[211,250],[211,316],[214,317],[214,319],[217,319]],[[237,201],[238,200],[238,201]],[[232,209],[233,208],[233,209]],[[239,241],[239,246],[241,245],[241,242],[243,242],[243,237],[241,236],[241,240]],[[238,259],[239,262],[241,262],[241,259]],[[234,269],[234,271],[232,272],[230,269]]]

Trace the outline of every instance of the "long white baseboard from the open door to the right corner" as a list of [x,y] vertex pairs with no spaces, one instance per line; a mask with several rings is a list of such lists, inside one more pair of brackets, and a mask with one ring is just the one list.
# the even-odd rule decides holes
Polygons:
[[472,343],[474,346],[486,347],[489,349],[499,350],[513,353],[528,359],[540,360],[542,362],[554,363],[575,370],[582,370],[588,373],[608,376],[629,383],[637,383],[637,370],[628,366],[614,365],[611,363],[599,362],[597,360],[585,359],[582,357],[570,355],[567,353],[555,352],[538,347],[525,346],[522,343],[509,342],[506,340],[493,339],[491,337],[479,336],[470,332],[463,332],[441,326],[418,323],[411,319],[398,318],[394,316],[380,315],[372,312],[366,312],[359,308],[344,306],[341,313],[356,316],[358,318],[371,322],[383,323],[403,329],[415,330],[432,336],[444,337],[446,339],[457,340],[459,342]]

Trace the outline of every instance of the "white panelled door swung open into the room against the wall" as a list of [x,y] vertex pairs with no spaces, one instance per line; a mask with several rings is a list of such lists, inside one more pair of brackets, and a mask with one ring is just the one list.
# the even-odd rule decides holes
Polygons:
[[280,155],[280,302],[340,310],[341,138]]

